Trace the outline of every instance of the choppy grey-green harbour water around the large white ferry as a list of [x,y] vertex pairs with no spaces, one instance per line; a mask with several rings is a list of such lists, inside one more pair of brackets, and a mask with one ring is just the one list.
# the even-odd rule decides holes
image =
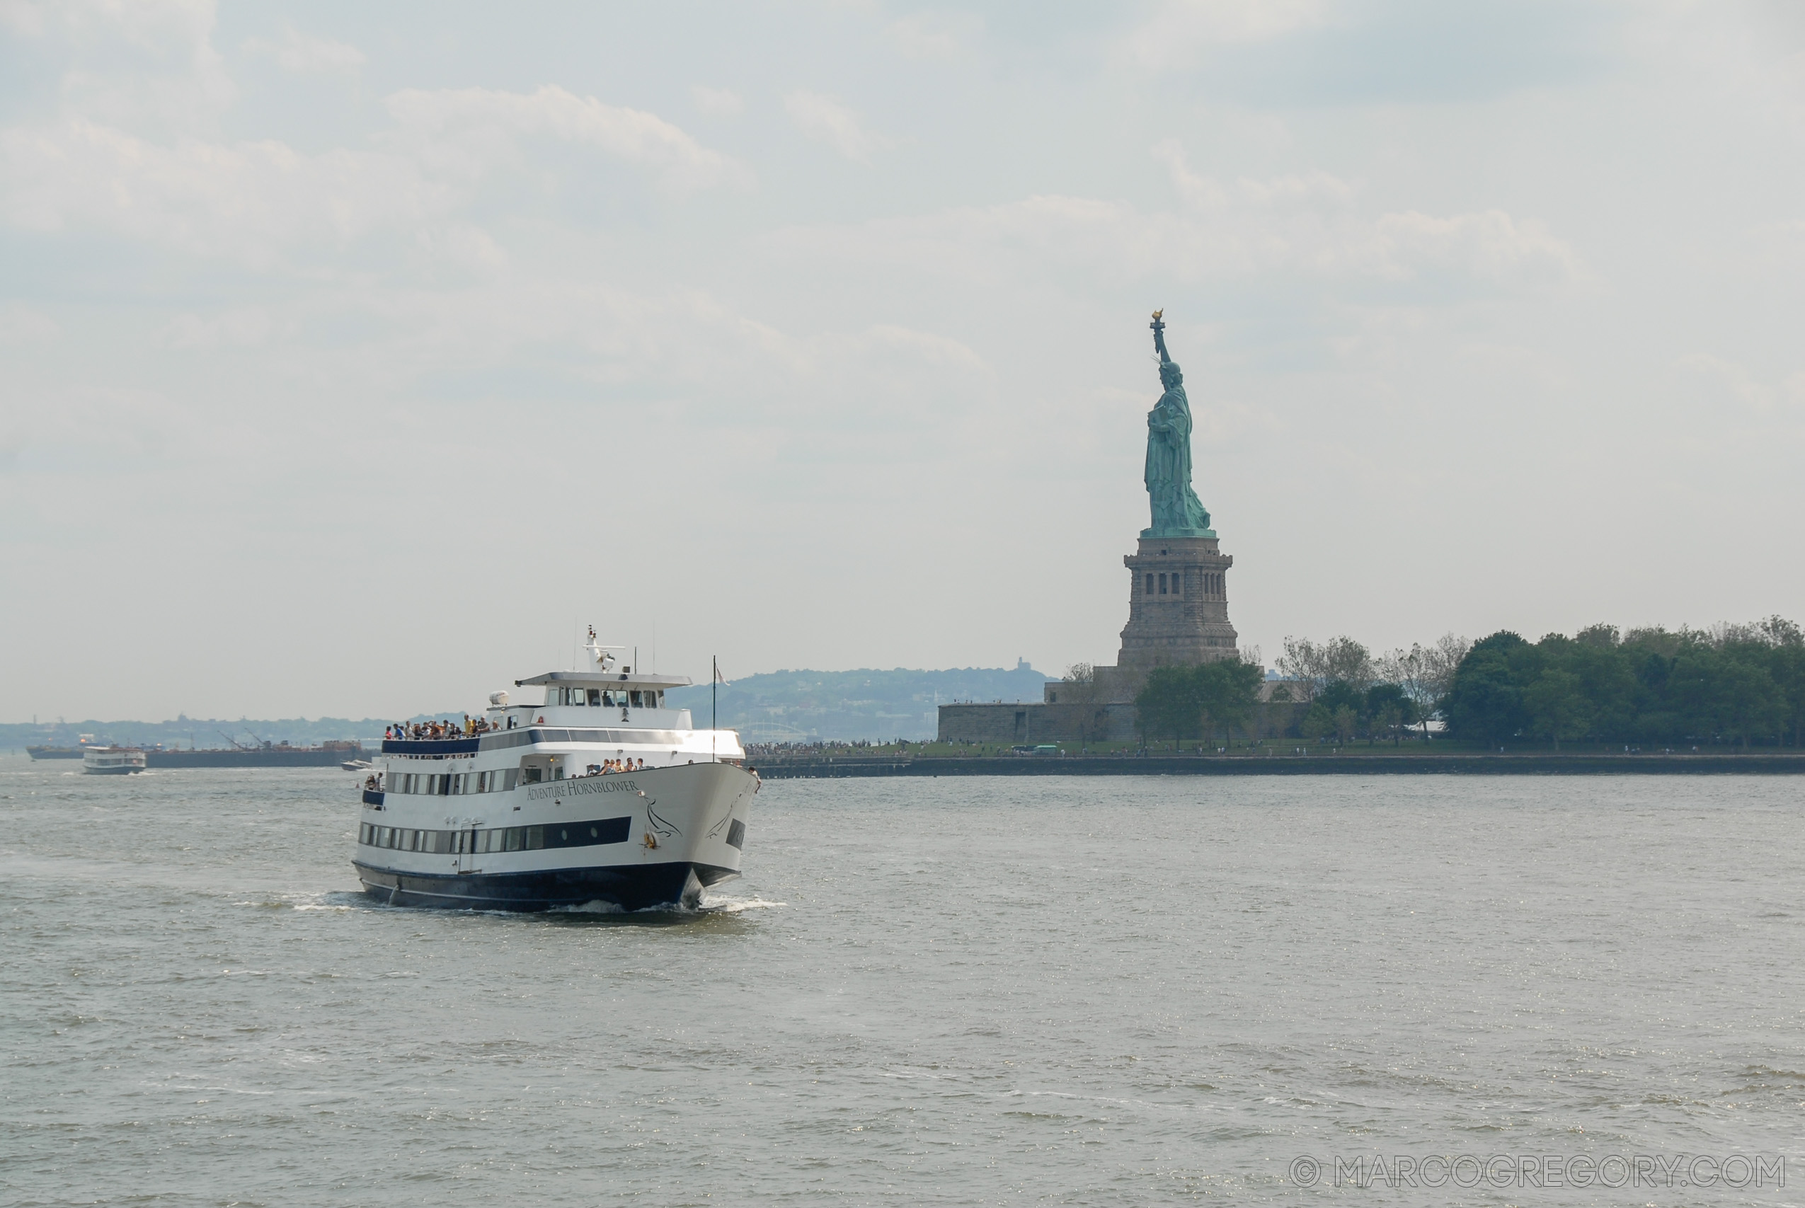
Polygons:
[[348,773],[0,758],[0,1199],[1798,1203],[1801,789],[773,782],[708,910],[534,917],[366,903]]

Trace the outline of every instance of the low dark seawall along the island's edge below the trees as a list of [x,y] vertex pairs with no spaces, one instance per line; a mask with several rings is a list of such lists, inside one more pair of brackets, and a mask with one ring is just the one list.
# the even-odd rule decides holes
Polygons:
[[1805,755],[1016,755],[751,758],[765,780],[845,776],[1805,775]]

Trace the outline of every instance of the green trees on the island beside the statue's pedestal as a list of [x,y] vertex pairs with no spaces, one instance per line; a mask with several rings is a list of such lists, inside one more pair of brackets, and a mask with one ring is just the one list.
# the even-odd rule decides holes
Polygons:
[[[1076,666],[1069,679],[1088,668]],[[1161,666],[1135,697],[1143,740],[1296,737],[1352,742],[1446,737],[1623,746],[1800,746],[1805,739],[1805,632],[1780,616],[1709,628],[1594,625],[1525,641],[1374,655],[1352,637],[1287,637],[1283,679],[1262,699],[1258,650],[1244,659]]]

